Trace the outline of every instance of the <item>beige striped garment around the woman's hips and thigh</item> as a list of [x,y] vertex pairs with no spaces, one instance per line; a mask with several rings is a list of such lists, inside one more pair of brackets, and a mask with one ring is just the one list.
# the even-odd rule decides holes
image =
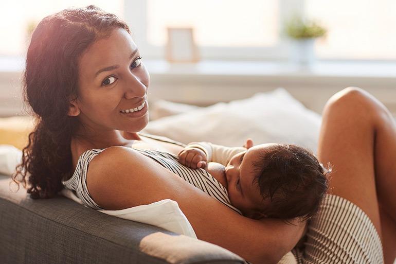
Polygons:
[[308,227],[298,263],[384,263],[381,239],[363,210],[350,201],[327,195]]

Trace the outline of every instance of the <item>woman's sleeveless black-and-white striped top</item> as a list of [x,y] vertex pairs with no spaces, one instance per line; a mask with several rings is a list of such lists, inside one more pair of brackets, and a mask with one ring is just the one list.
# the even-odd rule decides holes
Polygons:
[[[186,166],[183,166],[178,162],[177,155],[167,152],[139,149],[134,150],[150,157],[160,165],[174,172],[176,175],[179,175],[179,177],[181,177],[183,180],[201,189],[209,196],[220,201],[235,212],[241,214],[239,209],[231,205],[227,190],[206,170],[190,169]],[[89,162],[91,162],[91,160],[102,151],[103,149],[92,149],[85,151],[78,160],[73,176],[69,180],[63,182],[63,185],[67,189],[73,190],[77,197],[79,197],[87,207],[92,207],[96,210],[102,210],[104,208],[96,204],[91,195],[89,195],[86,185],[86,174],[88,171]]]

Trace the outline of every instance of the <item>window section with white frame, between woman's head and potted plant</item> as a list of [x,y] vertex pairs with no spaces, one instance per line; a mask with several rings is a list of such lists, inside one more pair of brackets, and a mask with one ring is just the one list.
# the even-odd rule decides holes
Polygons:
[[[287,2],[287,3],[286,3]],[[293,4],[300,6],[302,0]],[[281,36],[286,0],[125,1],[125,19],[145,57],[164,58],[168,27],[192,27],[206,59],[286,58]],[[139,10],[141,12],[136,12]]]

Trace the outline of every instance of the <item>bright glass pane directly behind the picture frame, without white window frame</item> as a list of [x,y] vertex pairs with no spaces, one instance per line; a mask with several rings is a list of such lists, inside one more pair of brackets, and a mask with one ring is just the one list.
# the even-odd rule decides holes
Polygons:
[[277,0],[149,0],[147,9],[150,45],[166,44],[166,27],[194,28],[199,46],[273,46],[279,38]]

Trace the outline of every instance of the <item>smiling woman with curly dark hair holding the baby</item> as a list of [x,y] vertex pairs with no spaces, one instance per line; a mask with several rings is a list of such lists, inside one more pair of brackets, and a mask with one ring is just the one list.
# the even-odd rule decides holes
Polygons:
[[[80,182],[86,186],[78,188],[93,208],[123,209],[172,199],[198,238],[254,263],[276,263],[302,236],[305,222],[245,218],[142,154],[177,154],[182,146],[138,134],[149,119],[150,77],[128,26],[116,16],[90,6],[46,17],[32,36],[25,82],[38,124],[17,175],[28,184],[32,198],[50,198],[63,187],[62,181],[75,188],[84,179]],[[385,234],[381,237],[390,263],[396,205],[389,172],[395,171],[396,129],[389,114],[362,91],[346,90],[327,105],[320,138],[320,159],[336,170],[332,192],[364,210],[374,240]],[[321,210],[310,226],[328,219],[326,212]],[[318,235],[321,229],[309,227],[307,247],[295,252],[298,257],[307,256],[307,262],[315,256],[339,258],[329,250],[318,254],[310,249],[326,247],[320,239],[327,234]],[[382,259],[379,239],[378,244],[373,259]]]

